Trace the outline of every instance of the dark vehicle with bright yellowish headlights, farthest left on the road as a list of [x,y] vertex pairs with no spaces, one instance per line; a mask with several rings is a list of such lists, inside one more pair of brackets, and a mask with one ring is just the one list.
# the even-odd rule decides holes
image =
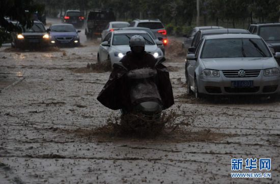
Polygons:
[[21,27],[21,33],[12,32],[12,47],[46,47],[49,45],[49,35],[46,32],[45,26],[42,22],[34,21],[32,27],[27,28],[26,25],[22,27],[19,22],[16,26]]

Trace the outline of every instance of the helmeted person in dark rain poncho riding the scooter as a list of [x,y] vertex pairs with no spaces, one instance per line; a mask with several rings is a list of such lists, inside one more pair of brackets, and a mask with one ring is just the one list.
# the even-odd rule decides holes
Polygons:
[[[139,35],[130,38],[130,49],[131,51],[128,51],[119,63],[113,65],[114,68],[109,80],[101,90],[97,100],[107,108],[113,110],[122,109],[126,113],[135,110],[135,106],[139,104],[147,106],[146,102],[151,101],[160,105],[160,111],[171,107],[174,104],[173,91],[169,72],[161,64],[164,59],[159,61],[152,54],[147,53],[145,51],[145,39]],[[148,74],[155,74],[148,77],[156,78],[154,89],[151,91],[158,91],[156,94],[151,93],[152,95],[149,96],[149,93],[147,93],[147,91],[151,90],[150,87],[153,86],[150,85],[151,82],[146,83],[148,85],[144,83],[144,88],[135,90],[135,87],[139,87],[139,85],[135,85],[135,79],[137,79],[136,82],[139,81],[139,77],[135,77],[135,75],[139,74],[140,71],[140,75],[143,76],[145,70],[142,71],[142,69],[150,70]],[[132,83],[131,81],[134,82]],[[146,88],[145,85],[147,86]],[[132,89],[133,87],[134,89]],[[145,97],[141,93],[145,93]],[[132,97],[135,94],[141,99]],[[152,102],[148,103],[148,106],[153,106]]]

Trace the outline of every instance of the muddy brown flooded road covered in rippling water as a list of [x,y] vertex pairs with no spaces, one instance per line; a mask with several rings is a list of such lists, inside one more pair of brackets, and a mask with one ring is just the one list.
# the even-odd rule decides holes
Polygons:
[[[280,101],[186,95],[176,45],[164,64],[175,97],[166,111],[177,111],[180,130],[146,139],[97,135],[119,115],[96,100],[110,72],[86,68],[97,62],[98,44],[0,48],[0,183],[280,182]],[[233,158],[271,158],[272,177],[231,178]]]

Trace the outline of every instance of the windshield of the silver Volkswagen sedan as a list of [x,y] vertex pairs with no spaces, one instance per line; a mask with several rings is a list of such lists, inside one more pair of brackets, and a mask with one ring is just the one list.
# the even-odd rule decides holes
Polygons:
[[271,57],[271,54],[262,39],[206,40],[201,58],[222,57]]

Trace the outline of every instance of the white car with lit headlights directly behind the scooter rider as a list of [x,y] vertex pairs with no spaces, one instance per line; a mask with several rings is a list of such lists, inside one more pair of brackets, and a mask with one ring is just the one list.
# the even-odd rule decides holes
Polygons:
[[130,51],[129,41],[134,35],[140,35],[146,40],[145,51],[152,54],[155,58],[162,57],[163,53],[158,45],[161,41],[154,41],[145,30],[115,30],[108,33],[99,46],[97,60],[105,62],[109,60],[111,65],[119,62],[120,59]]

